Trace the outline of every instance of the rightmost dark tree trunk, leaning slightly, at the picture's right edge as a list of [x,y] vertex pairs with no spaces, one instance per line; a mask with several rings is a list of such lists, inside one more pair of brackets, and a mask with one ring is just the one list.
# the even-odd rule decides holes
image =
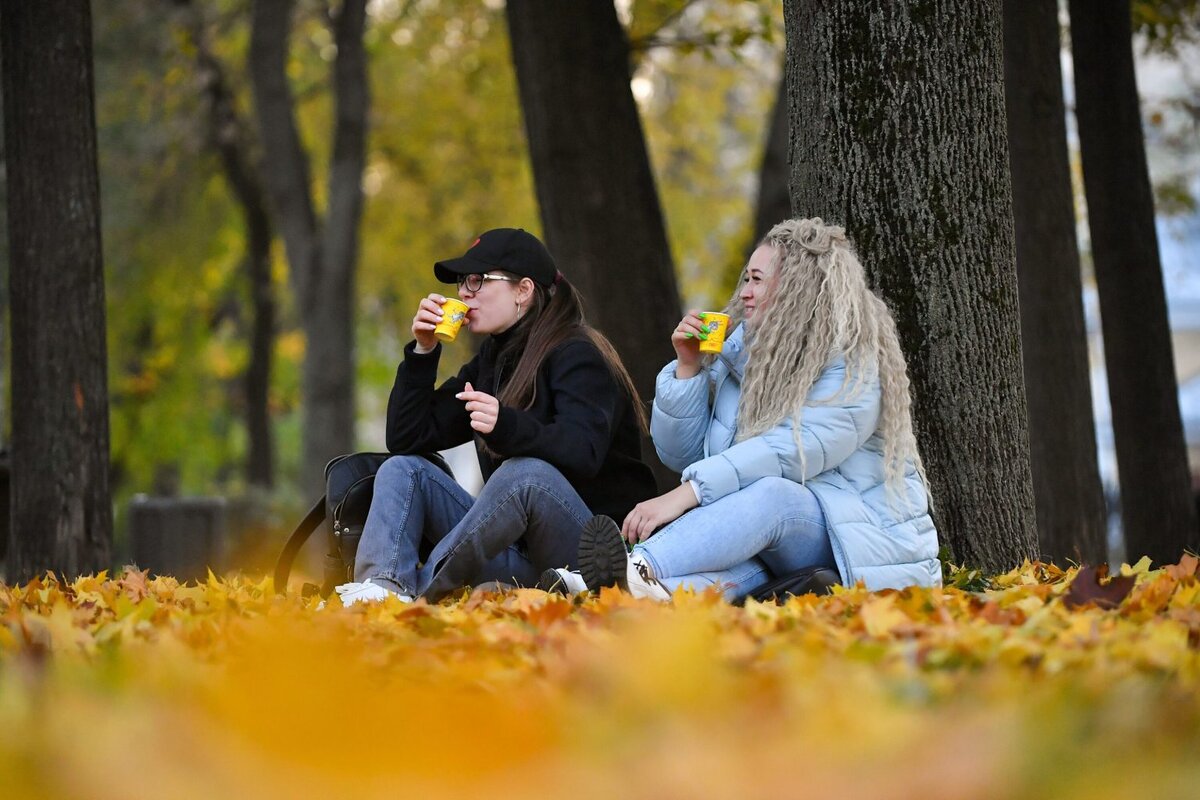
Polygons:
[[1100,295],[1121,519],[1130,560],[1178,560],[1200,545],[1154,199],[1134,77],[1128,0],[1072,0],[1075,115]]

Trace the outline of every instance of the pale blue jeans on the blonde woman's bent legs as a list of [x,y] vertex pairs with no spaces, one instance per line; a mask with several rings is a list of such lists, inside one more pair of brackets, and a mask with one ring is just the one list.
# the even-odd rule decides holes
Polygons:
[[778,577],[834,566],[824,512],[812,491],[763,477],[692,509],[634,548],[667,589],[716,585],[730,600]]

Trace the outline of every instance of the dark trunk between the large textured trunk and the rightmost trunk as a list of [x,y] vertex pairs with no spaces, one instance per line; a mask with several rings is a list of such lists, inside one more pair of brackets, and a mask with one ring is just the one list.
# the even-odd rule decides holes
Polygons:
[[1056,0],[1004,0],[1016,276],[1043,558],[1105,559]]

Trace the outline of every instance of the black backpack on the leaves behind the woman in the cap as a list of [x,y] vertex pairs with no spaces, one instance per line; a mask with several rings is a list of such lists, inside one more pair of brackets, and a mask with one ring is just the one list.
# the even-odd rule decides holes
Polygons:
[[[304,594],[319,591],[328,595],[334,587],[354,579],[354,557],[359,551],[359,537],[371,510],[374,495],[374,476],[379,467],[395,453],[350,453],[338,456],[325,464],[325,495],[317,500],[312,510],[288,536],[283,551],[275,563],[275,590],[287,591],[288,576],[296,554],[312,533],[322,524],[329,547],[324,560],[324,581],[320,587],[305,584]],[[450,465],[438,453],[422,457],[454,477]]]

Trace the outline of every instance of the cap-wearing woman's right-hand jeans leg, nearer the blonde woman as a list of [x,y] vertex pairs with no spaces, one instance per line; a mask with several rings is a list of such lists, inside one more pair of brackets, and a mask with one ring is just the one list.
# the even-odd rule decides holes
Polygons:
[[[574,566],[580,533],[590,518],[587,505],[554,467],[538,458],[510,458],[433,548],[421,570],[421,594],[436,602],[485,577],[533,585],[542,570]],[[522,539],[523,554],[506,552]],[[521,573],[485,575],[494,572],[504,558],[512,572]]]

